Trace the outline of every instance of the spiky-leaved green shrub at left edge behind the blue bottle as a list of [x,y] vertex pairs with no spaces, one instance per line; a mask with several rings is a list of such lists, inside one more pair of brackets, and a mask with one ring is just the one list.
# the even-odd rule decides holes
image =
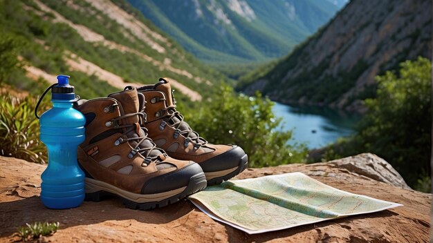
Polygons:
[[[39,120],[33,114],[37,99],[0,94],[0,155],[47,162],[46,147],[39,140]],[[39,114],[48,106],[43,102]]]

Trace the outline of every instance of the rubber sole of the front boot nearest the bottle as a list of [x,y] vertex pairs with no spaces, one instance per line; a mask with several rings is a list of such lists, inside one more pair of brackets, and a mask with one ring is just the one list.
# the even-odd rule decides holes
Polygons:
[[198,191],[203,190],[204,188],[206,188],[207,182],[206,182],[206,177],[204,173],[199,173],[196,175],[193,175],[190,178],[190,182],[187,186],[187,188],[185,188],[185,190],[177,195],[174,195],[172,197],[169,197],[165,200],[159,201],[159,202],[145,202],[145,203],[137,203],[137,202],[132,202],[130,200],[127,200],[126,198],[114,194],[114,193],[109,193],[107,191],[97,191],[95,193],[86,193],[86,197],[84,198],[84,200],[86,201],[92,201],[92,202],[100,202],[104,199],[107,199],[109,197],[120,197],[123,204],[125,204],[125,206],[127,206],[127,208],[131,208],[131,209],[139,209],[139,210],[150,210],[150,209],[154,209],[154,208],[162,208],[164,206],[168,206],[169,204],[174,204],[175,202],[178,202],[180,200],[182,200],[183,198],[192,195],[193,193],[196,193]]

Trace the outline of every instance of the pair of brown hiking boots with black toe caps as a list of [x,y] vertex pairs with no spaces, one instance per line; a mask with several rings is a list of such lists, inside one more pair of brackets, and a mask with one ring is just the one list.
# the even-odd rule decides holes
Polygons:
[[169,79],[80,99],[73,107],[86,117],[86,139],[78,148],[86,200],[114,194],[133,209],[167,206],[248,164],[239,146],[210,144],[183,121]]

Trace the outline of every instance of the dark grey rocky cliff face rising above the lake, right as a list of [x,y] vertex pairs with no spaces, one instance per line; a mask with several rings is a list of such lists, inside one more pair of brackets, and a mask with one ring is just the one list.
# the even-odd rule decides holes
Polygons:
[[353,0],[322,30],[239,89],[283,103],[358,109],[374,77],[418,56],[431,58],[432,1]]

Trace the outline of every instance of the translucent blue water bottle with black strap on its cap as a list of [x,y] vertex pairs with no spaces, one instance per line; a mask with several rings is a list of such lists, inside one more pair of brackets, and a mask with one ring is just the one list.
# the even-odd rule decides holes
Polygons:
[[57,84],[51,89],[53,108],[40,117],[41,141],[48,148],[48,167],[42,173],[42,203],[48,208],[74,208],[84,200],[84,173],[77,164],[77,148],[84,142],[86,119],[72,108],[75,101],[74,87],[68,84],[66,75],[57,76]]

